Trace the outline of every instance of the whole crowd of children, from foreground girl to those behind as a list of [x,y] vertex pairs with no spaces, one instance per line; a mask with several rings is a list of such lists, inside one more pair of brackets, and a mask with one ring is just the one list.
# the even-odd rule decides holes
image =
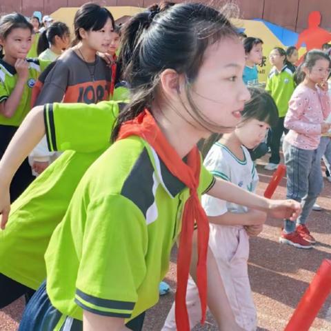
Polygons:
[[[256,330],[249,237],[269,214],[282,243],[314,243],[328,54],[297,69],[295,48],[274,48],[263,91],[263,41],[201,3],[151,6],[121,30],[87,3],[71,45],[66,24],[47,22],[0,20],[0,308],[26,295],[22,331],[142,330],[177,244],[163,330],[194,328],[207,306],[219,330]],[[272,201],[254,194],[251,155],[268,134],[277,168],[283,132],[288,200]]]

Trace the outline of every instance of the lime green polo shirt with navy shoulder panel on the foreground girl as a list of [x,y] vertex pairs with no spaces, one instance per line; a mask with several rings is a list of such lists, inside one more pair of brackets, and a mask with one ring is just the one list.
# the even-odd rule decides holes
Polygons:
[[[198,193],[212,183],[201,167]],[[52,305],[80,320],[83,310],[132,319],[152,307],[188,197],[143,139],[114,143],[84,175],[50,240]]]

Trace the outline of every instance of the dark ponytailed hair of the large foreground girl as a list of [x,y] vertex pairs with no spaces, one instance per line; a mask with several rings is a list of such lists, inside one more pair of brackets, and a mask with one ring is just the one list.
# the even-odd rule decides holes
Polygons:
[[186,110],[192,119],[211,132],[219,131],[219,126],[210,123],[194,105],[190,86],[197,78],[206,48],[225,37],[237,39],[237,29],[221,12],[201,3],[161,3],[132,17],[123,27],[119,54],[131,101],[119,114],[112,140],[122,123],[150,108],[160,74],[166,68],[183,74],[190,104]]

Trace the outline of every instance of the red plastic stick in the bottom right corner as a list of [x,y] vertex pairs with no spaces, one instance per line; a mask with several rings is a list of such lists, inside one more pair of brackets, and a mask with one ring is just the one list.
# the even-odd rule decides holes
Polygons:
[[331,260],[324,260],[284,331],[308,331],[331,292]]

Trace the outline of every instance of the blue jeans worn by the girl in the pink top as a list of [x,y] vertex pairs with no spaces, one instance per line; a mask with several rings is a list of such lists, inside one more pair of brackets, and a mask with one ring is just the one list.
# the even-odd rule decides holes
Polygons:
[[323,176],[319,148],[302,150],[287,141],[283,143],[284,160],[288,181],[286,197],[301,203],[302,212],[297,223],[288,219],[284,221],[284,231],[294,232],[296,224],[305,224],[312,207],[323,190]]

